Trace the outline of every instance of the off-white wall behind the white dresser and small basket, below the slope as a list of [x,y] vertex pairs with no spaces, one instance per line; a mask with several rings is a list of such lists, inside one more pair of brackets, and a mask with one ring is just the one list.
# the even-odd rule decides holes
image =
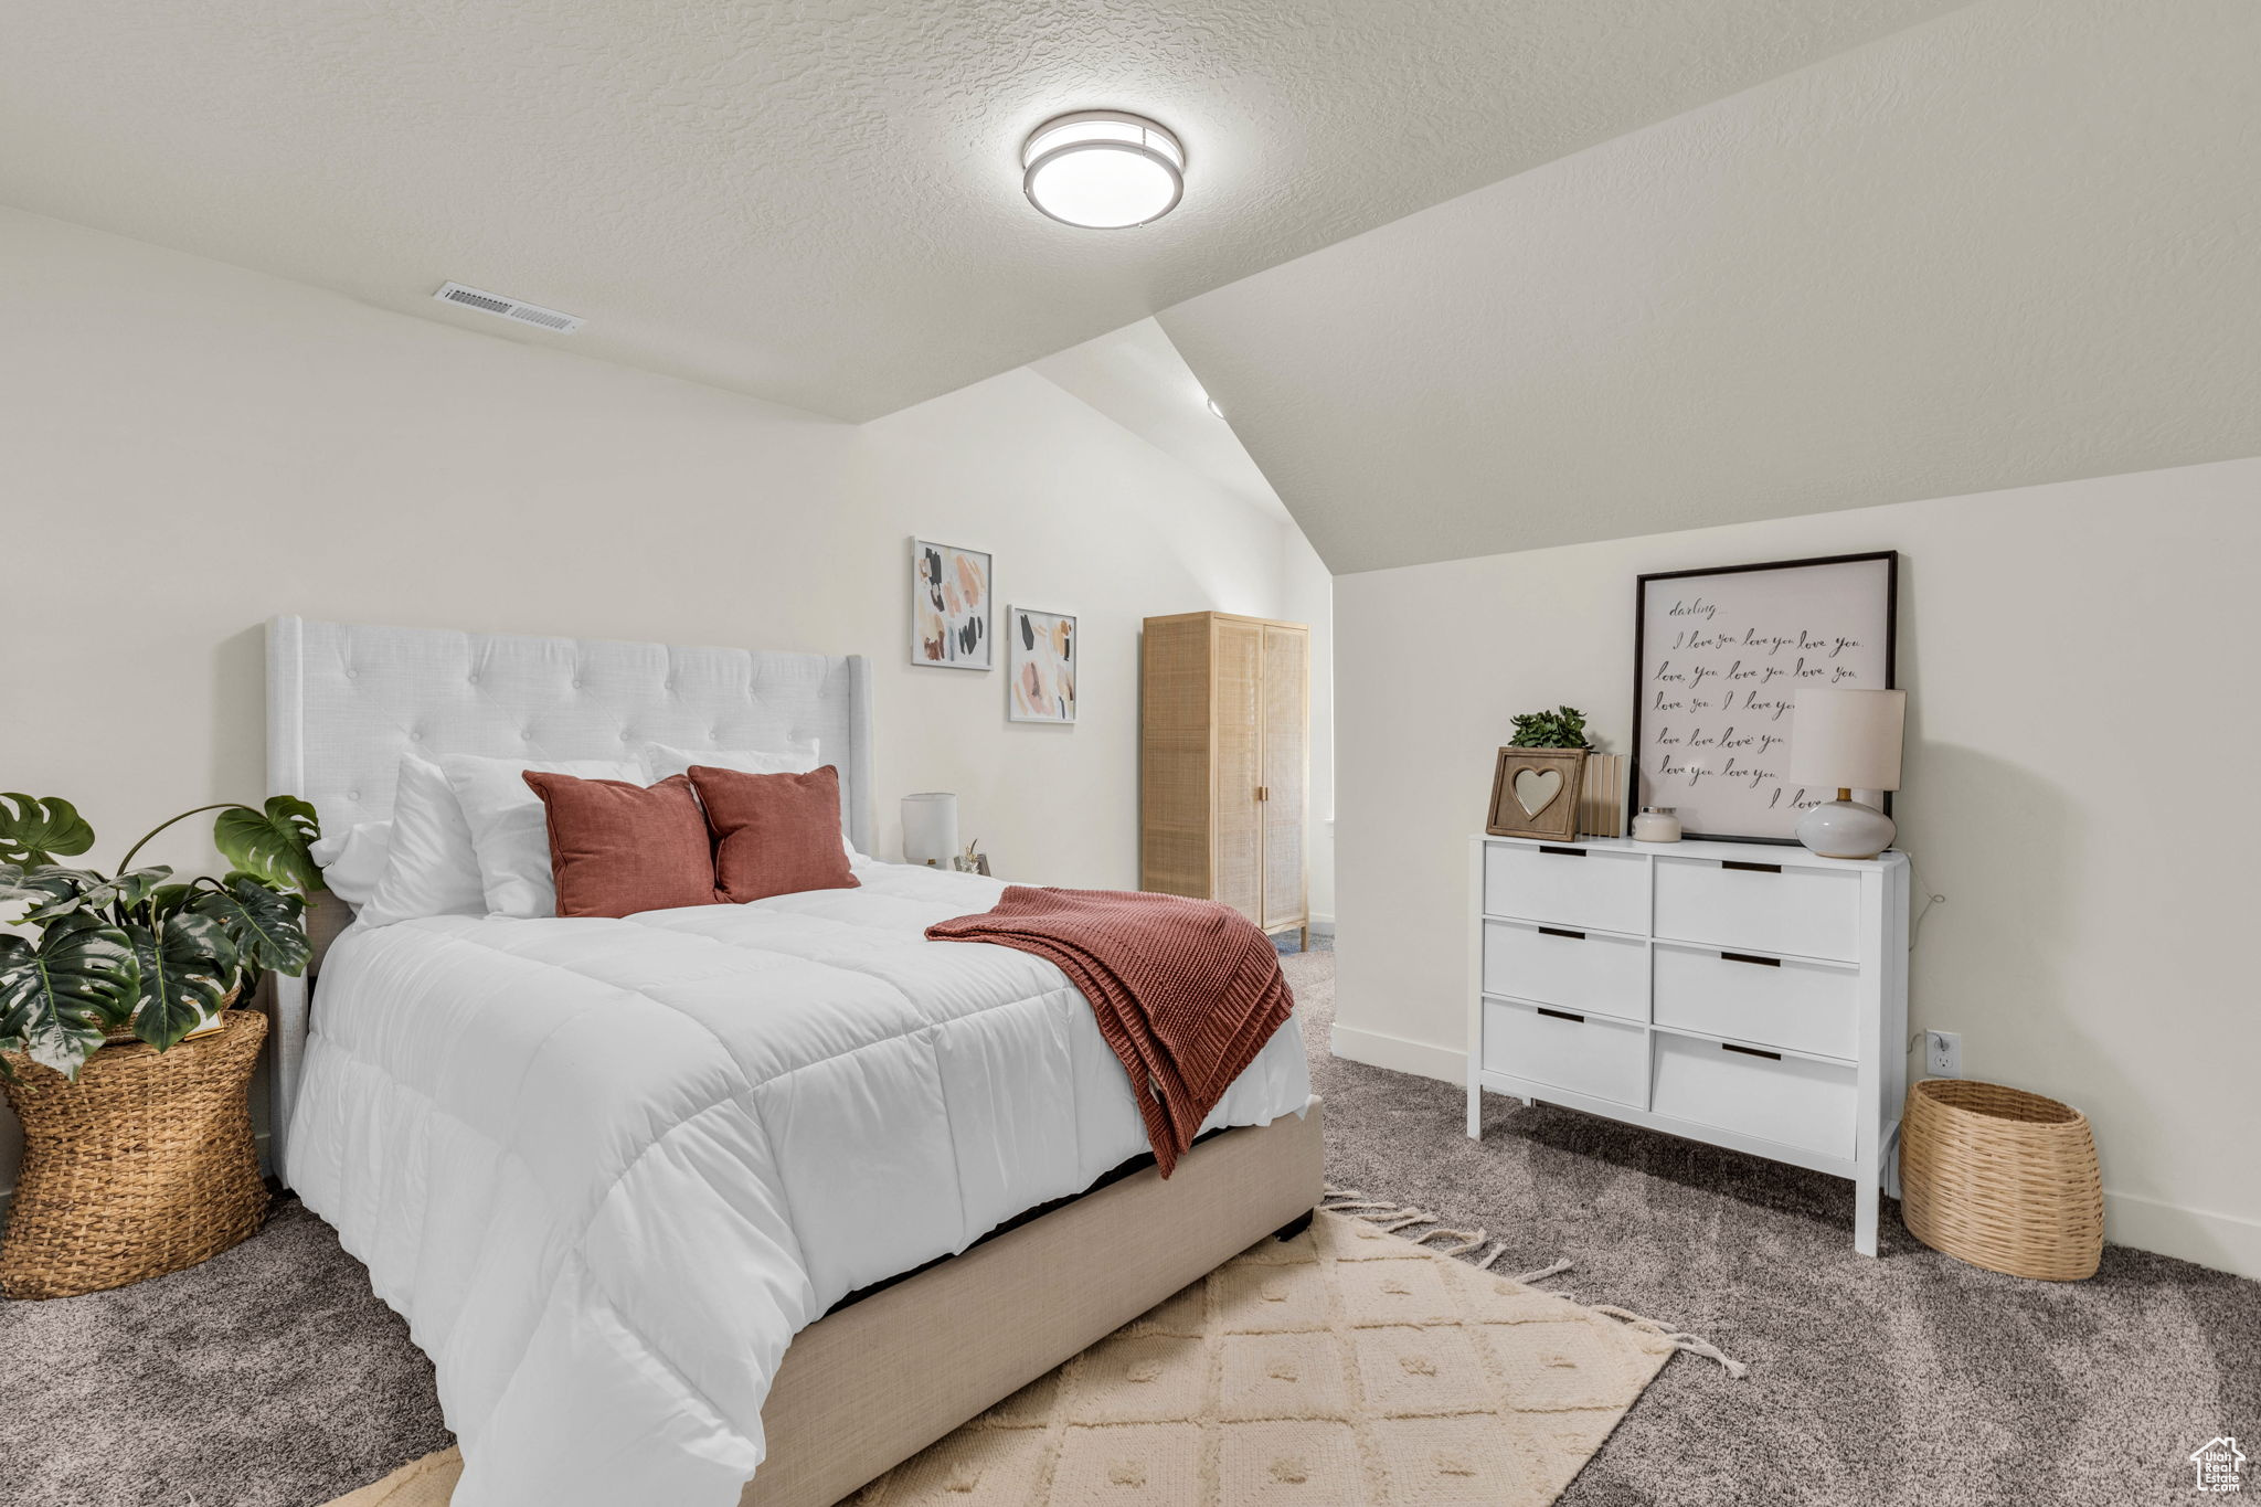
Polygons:
[[1915,1028],[2089,1114],[2107,1234],[2261,1277],[2243,816],[2261,459],[1336,578],[1336,1051],[1463,1078],[1467,838],[1508,716],[1623,750],[1641,572],[1902,551]]

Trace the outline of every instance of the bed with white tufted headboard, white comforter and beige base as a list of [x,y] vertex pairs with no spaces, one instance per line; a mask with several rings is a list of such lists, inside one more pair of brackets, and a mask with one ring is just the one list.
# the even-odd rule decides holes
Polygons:
[[[776,739],[821,741],[868,852],[859,657],[269,626],[269,784],[326,827],[402,752]],[[1309,1213],[1293,1021],[1162,1182],[1058,969],[922,938],[1002,886],[855,872],[348,926],[278,990],[278,1170],[432,1356],[457,1507],[839,1500]]]

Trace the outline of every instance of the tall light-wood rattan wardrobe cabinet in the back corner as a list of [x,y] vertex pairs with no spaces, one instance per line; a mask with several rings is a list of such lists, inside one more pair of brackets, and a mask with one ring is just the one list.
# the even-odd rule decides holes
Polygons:
[[1221,899],[1309,944],[1309,680],[1305,624],[1146,619],[1140,888]]

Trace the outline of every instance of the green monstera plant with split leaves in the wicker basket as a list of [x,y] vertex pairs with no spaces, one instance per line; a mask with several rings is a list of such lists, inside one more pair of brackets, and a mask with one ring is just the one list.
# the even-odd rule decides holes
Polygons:
[[[213,845],[233,865],[224,879],[133,868],[149,838],[203,811],[219,811]],[[77,1078],[106,1037],[131,1033],[165,1051],[262,972],[305,972],[305,897],[323,888],[307,856],[317,836],[314,807],[292,795],[265,809],[197,807],[102,874],[59,863],[95,845],[77,807],[0,793],[0,906],[25,906],[14,922],[36,933],[0,933],[0,1051]]]

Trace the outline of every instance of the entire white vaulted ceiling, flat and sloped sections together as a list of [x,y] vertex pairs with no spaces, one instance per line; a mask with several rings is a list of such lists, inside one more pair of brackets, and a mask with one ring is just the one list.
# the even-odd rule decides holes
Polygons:
[[[1036,364],[1336,572],[2261,454],[2254,0],[77,0],[7,43],[5,203],[834,418]],[[1101,104],[1187,140],[1155,226],[1020,197]]]

